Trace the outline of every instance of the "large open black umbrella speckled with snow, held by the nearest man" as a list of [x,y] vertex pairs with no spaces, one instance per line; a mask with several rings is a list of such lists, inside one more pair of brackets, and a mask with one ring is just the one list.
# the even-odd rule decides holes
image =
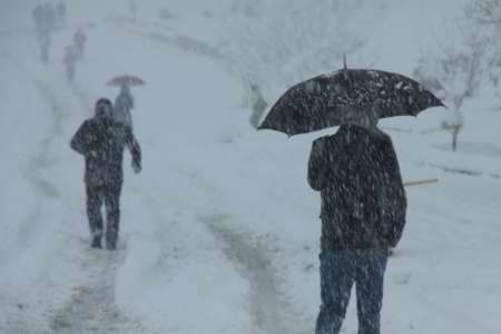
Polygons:
[[344,69],[289,88],[272,107],[258,129],[288,136],[338,126],[350,109],[373,111],[379,118],[416,116],[444,106],[416,81],[399,73]]

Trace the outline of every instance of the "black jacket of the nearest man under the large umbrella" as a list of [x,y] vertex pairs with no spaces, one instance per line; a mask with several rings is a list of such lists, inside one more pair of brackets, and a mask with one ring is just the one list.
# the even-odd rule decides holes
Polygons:
[[394,247],[406,198],[390,136],[342,126],[313,143],[308,183],[322,196],[322,249]]

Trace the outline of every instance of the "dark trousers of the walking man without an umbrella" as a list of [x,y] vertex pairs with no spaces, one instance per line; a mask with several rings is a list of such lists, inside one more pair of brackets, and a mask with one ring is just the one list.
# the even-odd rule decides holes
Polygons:
[[90,233],[94,238],[102,237],[101,207],[106,207],[106,240],[115,245],[118,238],[120,220],[121,183],[102,185],[87,184],[87,216],[89,217]]

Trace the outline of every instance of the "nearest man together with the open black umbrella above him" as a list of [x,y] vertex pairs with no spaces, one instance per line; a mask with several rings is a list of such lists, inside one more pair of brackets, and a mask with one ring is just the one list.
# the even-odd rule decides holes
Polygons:
[[316,334],[337,334],[356,283],[358,334],[380,334],[389,253],[404,226],[406,197],[389,135],[377,120],[444,105],[393,72],[344,68],[291,87],[259,129],[295,136],[328,127],[313,143],[310,186],[322,197],[321,311]]

